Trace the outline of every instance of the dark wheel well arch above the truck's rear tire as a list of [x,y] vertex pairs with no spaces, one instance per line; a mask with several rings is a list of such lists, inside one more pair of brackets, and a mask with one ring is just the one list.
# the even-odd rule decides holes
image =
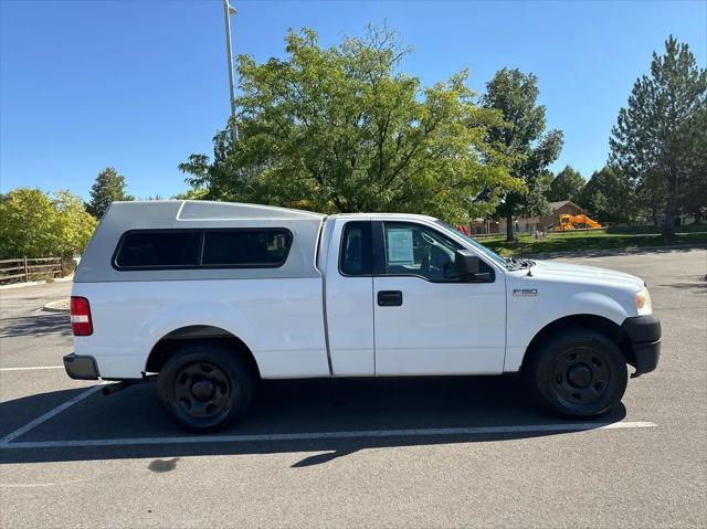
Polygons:
[[253,373],[257,378],[261,375],[255,357],[243,340],[228,330],[208,325],[182,327],[165,335],[157,343],[155,343],[155,347],[152,347],[152,350],[147,358],[145,372],[158,373],[160,369],[162,369],[162,366],[165,366],[165,362],[172,355],[176,355],[179,351],[180,346],[183,345],[186,340],[190,340],[192,342],[208,341],[224,346],[233,351],[234,355],[239,355],[245,361],[246,366],[253,370]]

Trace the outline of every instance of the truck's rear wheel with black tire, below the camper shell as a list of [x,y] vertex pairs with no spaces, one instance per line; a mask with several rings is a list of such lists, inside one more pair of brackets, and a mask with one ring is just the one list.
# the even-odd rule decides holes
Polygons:
[[253,375],[238,352],[218,343],[184,345],[157,379],[167,415],[188,432],[217,432],[243,413]]

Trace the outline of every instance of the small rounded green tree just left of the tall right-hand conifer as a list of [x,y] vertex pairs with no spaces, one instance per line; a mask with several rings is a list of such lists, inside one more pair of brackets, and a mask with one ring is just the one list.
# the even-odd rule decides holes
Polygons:
[[578,204],[588,209],[600,222],[630,222],[636,216],[636,199],[631,179],[612,167],[594,173],[578,197]]

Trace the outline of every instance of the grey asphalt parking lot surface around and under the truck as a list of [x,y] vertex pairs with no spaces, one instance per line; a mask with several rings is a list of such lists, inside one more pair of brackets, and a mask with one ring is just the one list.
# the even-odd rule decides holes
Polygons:
[[643,277],[658,370],[571,423],[514,377],[263,383],[215,437],[162,415],[154,384],[70,380],[68,295],[0,290],[0,526],[706,527],[707,250],[561,261]]

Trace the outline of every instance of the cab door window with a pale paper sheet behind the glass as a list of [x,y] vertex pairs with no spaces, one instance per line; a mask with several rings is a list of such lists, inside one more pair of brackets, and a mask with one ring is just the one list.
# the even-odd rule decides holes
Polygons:
[[383,223],[384,275],[413,275],[456,282],[455,252],[462,246],[435,230],[403,222]]

